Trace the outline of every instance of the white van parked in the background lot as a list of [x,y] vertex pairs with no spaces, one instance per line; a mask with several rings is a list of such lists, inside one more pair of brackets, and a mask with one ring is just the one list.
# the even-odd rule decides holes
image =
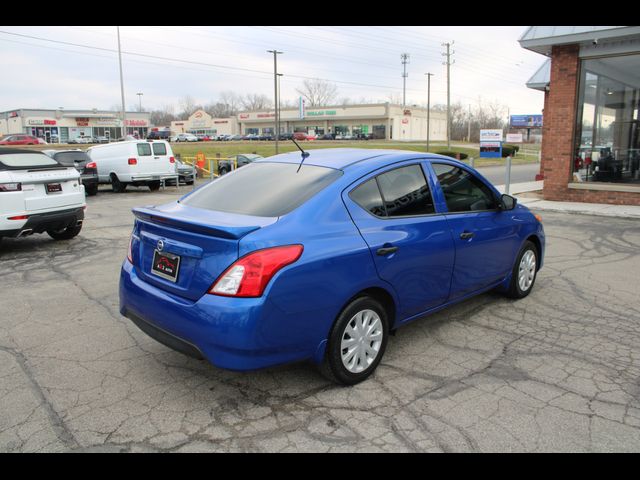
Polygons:
[[98,181],[110,183],[114,192],[127,185],[160,188],[160,180],[176,178],[176,159],[165,140],[134,140],[96,145],[87,154],[98,167]]

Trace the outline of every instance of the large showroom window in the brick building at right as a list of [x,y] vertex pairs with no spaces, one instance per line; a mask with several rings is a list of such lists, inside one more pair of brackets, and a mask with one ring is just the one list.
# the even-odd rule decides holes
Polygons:
[[574,182],[640,184],[640,55],[582,61]]

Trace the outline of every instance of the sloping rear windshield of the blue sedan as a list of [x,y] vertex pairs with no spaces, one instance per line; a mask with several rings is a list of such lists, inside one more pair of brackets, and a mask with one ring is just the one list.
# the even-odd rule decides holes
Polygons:
[[340,170],[298,164],[251,163],[223,175],[182,200],[192,207],[257,217],[279,217],[342,175]]

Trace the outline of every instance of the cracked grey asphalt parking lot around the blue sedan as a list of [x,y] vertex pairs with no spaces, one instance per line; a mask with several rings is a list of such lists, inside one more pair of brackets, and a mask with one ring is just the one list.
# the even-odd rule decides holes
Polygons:
[[103,187],[75,239],[3,241],[0,451],[640,451],[640,222],[543,214],[531,295],[414,322],[345,388],[223,371],[120,316],[130,209],[176,196]]

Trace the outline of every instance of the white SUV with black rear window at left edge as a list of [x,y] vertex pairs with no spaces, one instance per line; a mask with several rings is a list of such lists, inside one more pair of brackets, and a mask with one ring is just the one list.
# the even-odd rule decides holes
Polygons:
[[47,232],[68,240],[82,229],[80,174],[30,150],[0,149],[0,239]]

